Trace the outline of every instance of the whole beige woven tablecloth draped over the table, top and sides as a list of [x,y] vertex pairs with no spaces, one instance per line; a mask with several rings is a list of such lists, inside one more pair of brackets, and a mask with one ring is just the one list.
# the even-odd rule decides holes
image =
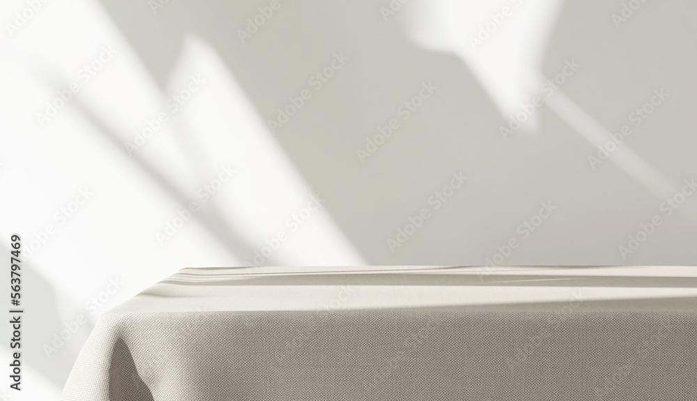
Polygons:
[[697,400],[697,268],[186,268],[61,400]]

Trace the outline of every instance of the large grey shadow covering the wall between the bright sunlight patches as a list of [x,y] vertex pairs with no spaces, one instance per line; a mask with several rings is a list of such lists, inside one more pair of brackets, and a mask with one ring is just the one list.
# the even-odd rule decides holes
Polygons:
[[[275,119],[289,96],[312,92],[308,78],[344,52],[349,60],[342,70],[273,136],[308,186],[327,199],[332,219],[367,264],[482,264],[495,252],[487,250],[510,239],[512,222],[532,215],[542,199],[563,204],[563,217],[545,223],[535,233],[537,244],[507,262],[630,264],[615,244],[636,230],[637,215],[658,209],[660,199],[612,163],[594,172],[587,163],[595,148],[549,109],[540,111],[535,139],[503,142],[498,130],[505,118],[470,69],[452,54],[414,45],[398,24],[383,20],[382,1],[282,3],[244,44],[238,29],[259,13],[259,3],[169,2],[155,15],[142,1],[101,3],[163,92],[187,37],[201,39],[243,88],[254,118],[263,121]],[[697,111],[691,100],[697,61],[684,51],[696,32],[674,23],[675,15],[684,14],[681,7],[678,1],[647,5],[618,30],[610,16],[620,3],[566,1],[542,66],[553,77],[565,60],[578,59],[582,68],[562,91],[611,132],[653,89],[673,90],[673,107],[662,108],[643,126],[642,139],[635,135],[627,146],[660,176],[680,177],[676,183],[687,174],[687,149],[697,145],[678,134]],[[586,33],[588,26],[599,29]],[[397,107],[431,81],[439,86],[435,95],[360,162],[356,150],[378,126],[399,119]],[[671,149],[677,153],[659,151],[665,135],[649,135],[659,128],[675,133]],[[187,140],[191,159],[201,162],[195,141]],[[391,252],[386,240],[409,216],[430,208],[429,197],[461,169],[473,179],[443,208],[431,209],[437,218],[424,223],[408,246]],[[229,229],[243,238],[242,229]],[[694,237],[693,225],[680,229]],[[662,241],[661,252],[649,252],[641,264],[689,265],[697,251],[684,251],[694,249],[688,241]]]

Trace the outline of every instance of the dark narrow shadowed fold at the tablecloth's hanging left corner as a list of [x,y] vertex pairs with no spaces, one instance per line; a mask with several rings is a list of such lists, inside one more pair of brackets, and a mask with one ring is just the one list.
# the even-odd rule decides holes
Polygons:
[[119,338],[109,363],[110,401],[154,401],[148,386],[138,376],[128,346]]

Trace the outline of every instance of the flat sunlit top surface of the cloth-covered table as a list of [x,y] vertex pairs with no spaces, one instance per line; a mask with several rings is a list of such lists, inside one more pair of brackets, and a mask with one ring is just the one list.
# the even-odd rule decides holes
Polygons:
[[379,266],[184,268],[109,313],[319,310],[342,287],[342,310],[697,309],[696,267]]

